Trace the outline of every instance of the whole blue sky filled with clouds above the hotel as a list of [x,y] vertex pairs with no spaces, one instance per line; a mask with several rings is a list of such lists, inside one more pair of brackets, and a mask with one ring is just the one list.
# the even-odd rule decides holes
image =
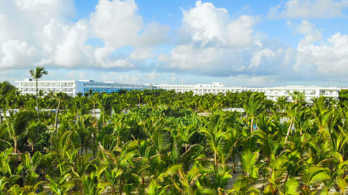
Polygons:
[[0,82],[348,86],[348,0],[0,0]]

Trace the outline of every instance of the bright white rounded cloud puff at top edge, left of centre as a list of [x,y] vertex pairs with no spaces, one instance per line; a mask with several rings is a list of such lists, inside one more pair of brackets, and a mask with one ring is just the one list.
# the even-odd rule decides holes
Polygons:
[[166,41],[169,26],[143,24],[134,0],[100,0],[90,16],[92,34],[108,46],[152,46]]

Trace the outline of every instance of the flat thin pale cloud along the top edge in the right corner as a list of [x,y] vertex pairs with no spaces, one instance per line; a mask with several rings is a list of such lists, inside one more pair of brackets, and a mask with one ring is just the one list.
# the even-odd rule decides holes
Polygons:
[[347,8],[347,0],[290,0],[270,8],[268,17],[272,19],[346,17],[342,11]]

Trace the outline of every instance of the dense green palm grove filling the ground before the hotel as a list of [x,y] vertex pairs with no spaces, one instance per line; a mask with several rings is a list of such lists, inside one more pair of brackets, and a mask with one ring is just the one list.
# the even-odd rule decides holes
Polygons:
[[293,98],[31,96],[4,82],[0,194],[345,194],[347,103]]

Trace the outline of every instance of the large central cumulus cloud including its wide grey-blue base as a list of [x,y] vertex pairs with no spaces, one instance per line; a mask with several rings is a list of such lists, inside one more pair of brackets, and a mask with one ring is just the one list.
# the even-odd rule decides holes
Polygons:
[[231,18],[225,8],[201,1],[196,2],[195,8],[182,12],[181,29],[186,29],[184,34],[191,38],[185,38],[187,42],[176,46],[171,53],[159,56],[162,71],[209,76],[259,74],[261,64],[278,54],[284,55],[273,51],[278,50],[277,46],[268,48],[268,43],[253,35],[258,17]]

